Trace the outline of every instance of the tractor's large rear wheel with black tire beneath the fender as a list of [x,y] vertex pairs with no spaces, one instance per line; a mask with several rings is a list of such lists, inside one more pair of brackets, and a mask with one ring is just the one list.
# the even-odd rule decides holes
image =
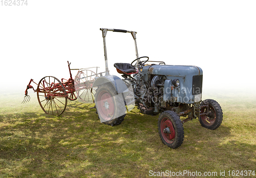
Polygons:
[[[114,96],[116,97],[113,98]],[[103,98],[105,98],[105,101]],[[117,96],[116,90],[111,83],[98,86],[95,94],[95,106],[98,118],[104,124],[114,126],[121,124],[124,120],[126,107],[123,98]]]

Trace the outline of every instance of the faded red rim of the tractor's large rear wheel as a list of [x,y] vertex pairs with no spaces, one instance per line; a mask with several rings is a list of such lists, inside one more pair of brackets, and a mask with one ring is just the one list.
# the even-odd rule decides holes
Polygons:
[[99,115],[106,121],[113,118],[115,113],[114,98],[107,91],[102,91],[98,95],[97,110]]

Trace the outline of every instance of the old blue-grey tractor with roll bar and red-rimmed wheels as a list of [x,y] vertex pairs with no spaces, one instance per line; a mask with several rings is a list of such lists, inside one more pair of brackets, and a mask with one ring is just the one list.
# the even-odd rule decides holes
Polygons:
[[[198,66],[166,65],[139,57],[136,33],[119,29],[101,28],[105,76],[97,77],[95,106],[101,122],[121,124],[127,109],[137,106],[141,113],[159,115],[158,132],[162,142],[170,148],[181,146],[183,123],[199,118],[203,127],[216,129],[222,123],[220,104],[212,99],[202,101],[203,71]],[[135,41],[136,59],[131,63],[115,63],[122,79],[109,74],[105,36],[108,31],[131,33]],[[132,106],[132,107],[131,107]],[[186,119],[181,120],[180,117]]]

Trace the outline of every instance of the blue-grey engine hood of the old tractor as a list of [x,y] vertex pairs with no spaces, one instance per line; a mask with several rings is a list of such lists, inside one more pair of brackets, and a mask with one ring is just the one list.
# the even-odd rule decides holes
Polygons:
[[[150,84],[155,76],[165,76],[163,100],[191,104],[202,100],[203,71],[191,65],[146,65],[142,69],[143,80]],[[174,86],[173,80],[179,80]],[[153,87],[153,86],[151,86]]]

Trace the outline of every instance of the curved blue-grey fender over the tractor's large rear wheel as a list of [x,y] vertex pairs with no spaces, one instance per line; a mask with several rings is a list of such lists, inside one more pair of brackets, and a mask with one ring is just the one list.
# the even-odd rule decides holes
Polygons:
[[102,85],[104,83],[111,83],[114,86],[117,94],[123,93],[124,97],[129,95],[129,90],[126,84],[123,82],[122,79],[120,79],[115,75],[106,75],[106,76],[97,77],[93,83],[93,87]]

